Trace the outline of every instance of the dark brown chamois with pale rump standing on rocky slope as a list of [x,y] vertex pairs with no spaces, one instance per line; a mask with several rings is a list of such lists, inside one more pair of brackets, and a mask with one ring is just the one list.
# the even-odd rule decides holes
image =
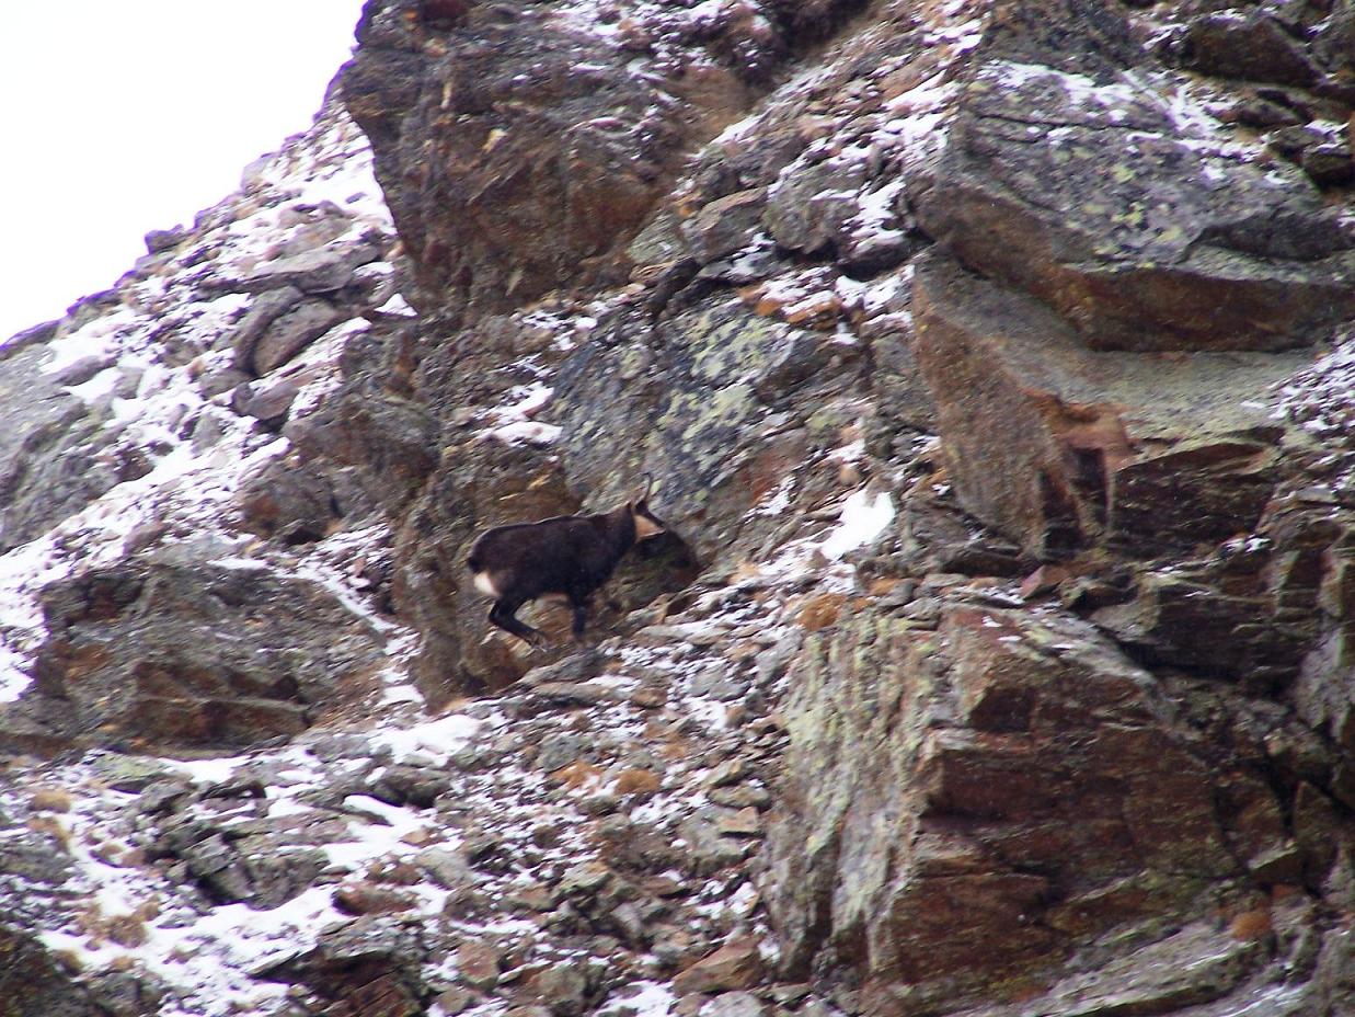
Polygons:
[[545,635],[519,621],[518,609],[538,597],[560,594],[575,610],[575,641],[583,641],[593,591],[638,541],[664,532],[664,523],[649,511],[652,487],[653,480],[645,477],[644,492],[610,513],[557,515],[481,533],[466,564],[476,589],[495,598],[489,621],[539,645]]

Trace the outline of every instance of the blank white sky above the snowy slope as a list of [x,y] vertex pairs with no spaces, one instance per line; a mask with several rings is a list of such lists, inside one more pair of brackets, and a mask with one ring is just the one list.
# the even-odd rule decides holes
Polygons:
[[0,342],[107,289],[304,130],[362,0],[7,0]]

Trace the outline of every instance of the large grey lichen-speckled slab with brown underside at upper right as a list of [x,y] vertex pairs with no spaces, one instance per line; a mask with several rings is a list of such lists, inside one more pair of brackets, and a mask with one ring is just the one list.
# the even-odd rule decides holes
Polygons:
[[909,183],[921,228],[966,267],[1102,350],[1286,348],[1355,313],[1355,236],[1297,171],[1232,160],[1129,81],[1046,68],[1004,84],[1014,73],[977,75]]

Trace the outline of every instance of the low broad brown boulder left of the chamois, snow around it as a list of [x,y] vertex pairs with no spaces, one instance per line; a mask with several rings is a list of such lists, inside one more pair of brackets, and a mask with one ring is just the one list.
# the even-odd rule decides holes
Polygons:
[[[316,583],[206,560],[89,570],[47,587],[43,612],[51,637],[31,696],[70,702],[80,740],[238,746],[295,734],[308,704],[370,667],[378,645]],[[251,645],[232,635],[243,625]]]

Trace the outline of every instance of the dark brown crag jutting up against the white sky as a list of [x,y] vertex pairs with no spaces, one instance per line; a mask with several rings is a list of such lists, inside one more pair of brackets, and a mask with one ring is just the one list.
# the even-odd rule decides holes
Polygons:
[[580,31],[564,12],[492,5],[472,7],[425,50],[417,24],[374,8],[344,95],[373,138],[423,290],[503,309],[565,283],[623,279],[625,248],[684,153],[738,119],[745,81],[768,80],[850,8],[825,0],[768,19],[732,4],[676,23],[660,8],[629,11],[626,35],[653,31],[683,54],[676,64],[648,43],[637,53]]

